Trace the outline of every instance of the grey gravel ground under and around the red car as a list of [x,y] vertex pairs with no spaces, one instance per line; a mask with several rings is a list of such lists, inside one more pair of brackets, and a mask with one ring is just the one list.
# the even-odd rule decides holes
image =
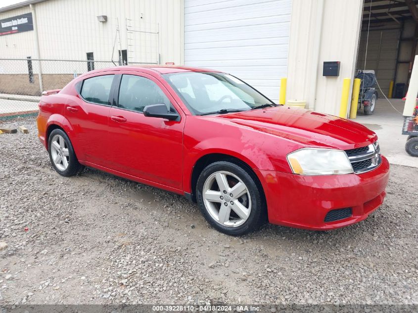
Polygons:
[[418,169],[392,166],[359,224],[234,238],[181,196],[92,169],[63,178],[35,119],[2,124],[30,131],[0,135],[2,304],[418,304]]

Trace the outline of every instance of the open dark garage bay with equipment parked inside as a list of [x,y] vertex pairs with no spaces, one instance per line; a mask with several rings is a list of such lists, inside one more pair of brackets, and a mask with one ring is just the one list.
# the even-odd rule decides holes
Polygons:
[[[417,4],[417,0],[364,1],[356,63],[357,77],[362,79],[358,114],[382,114],[386,109],[402,112],[401,99],[417,51]],[[390,102],[395,108],[385,96],[394,99]]]

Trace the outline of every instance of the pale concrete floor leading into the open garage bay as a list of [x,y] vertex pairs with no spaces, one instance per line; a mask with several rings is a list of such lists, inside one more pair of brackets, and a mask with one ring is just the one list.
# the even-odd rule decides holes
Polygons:
[[391,164],[406,165],[418,168],[418,158],[410,156],[405,151],[407,136],[402,134],[405,102],[402,99],[389,99],[396,112],[385,98],[379,98],[373,115],[364,115],[363,109],[357,111],[353,121],[363,124],[379,137],[382,154]]

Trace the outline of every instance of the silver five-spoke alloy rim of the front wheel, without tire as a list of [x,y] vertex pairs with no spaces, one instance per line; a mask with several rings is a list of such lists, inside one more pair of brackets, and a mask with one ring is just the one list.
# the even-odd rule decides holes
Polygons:
[[206,179],[203,200],[210,216],[227,227],[244,224],[251,212],[251,197],[247,186],[230,172],[215,172]]

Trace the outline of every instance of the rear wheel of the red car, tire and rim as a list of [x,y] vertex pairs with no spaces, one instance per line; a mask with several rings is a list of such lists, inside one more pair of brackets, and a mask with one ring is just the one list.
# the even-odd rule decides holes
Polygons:
[[59,175],[74,176],[84,169],[77,160],[70,138],[61,129],[54,129],[49,134],[48,153],[52,167]]

